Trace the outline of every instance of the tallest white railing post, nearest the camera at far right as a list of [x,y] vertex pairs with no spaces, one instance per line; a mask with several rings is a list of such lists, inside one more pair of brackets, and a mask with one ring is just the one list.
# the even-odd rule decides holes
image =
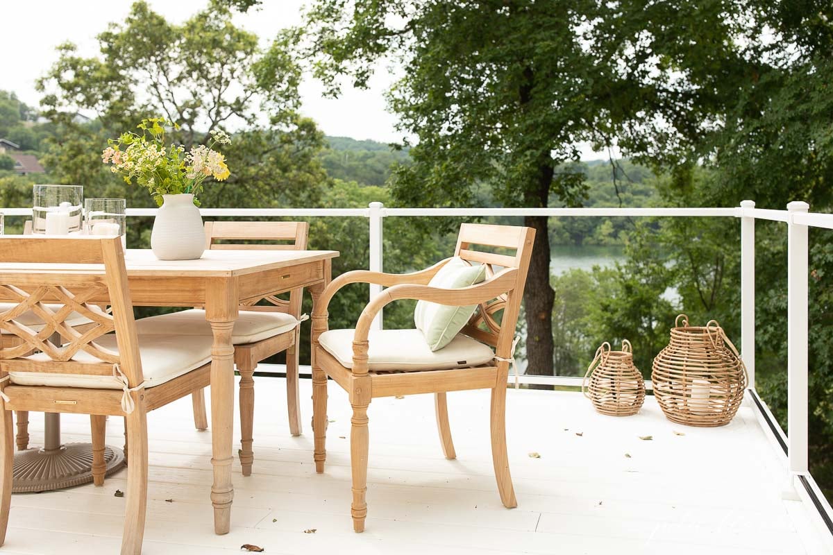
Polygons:
[[787,216],[787,454],[790,485],[809,469],[807,451],[807,313],[808,228],[793,223],[793,216],[810,208],[806,202],[791,202]]

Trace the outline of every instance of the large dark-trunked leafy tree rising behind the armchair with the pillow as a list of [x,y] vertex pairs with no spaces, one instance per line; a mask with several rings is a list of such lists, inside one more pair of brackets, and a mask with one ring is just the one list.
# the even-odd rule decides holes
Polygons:
[[[390,107],[418,142],[393,178],[397,201],[467,206],[485,190],[502,206],[579,206],[584,174],[563,163],[580,141],[685,160],[721,93],[746,76],[733,50],[743,2],[731,17],[725,3],[317,0],[294,38],[332,94],[343,76],[366,87],[379,60],[402,66]],[[537,231],[527,372],[551,374],[548,221],[525,224]]]

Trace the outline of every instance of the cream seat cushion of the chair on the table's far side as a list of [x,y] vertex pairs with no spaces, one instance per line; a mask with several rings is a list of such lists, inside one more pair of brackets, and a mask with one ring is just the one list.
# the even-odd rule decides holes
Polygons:
[[[284,312],[256,312],[241,310],[234,322],[232,343],[256,343],[292,330],[298,325],[293,315]],[[205,310],[182,310],[167,315],[136,320],[137,334],[207,335],[212,336]]]

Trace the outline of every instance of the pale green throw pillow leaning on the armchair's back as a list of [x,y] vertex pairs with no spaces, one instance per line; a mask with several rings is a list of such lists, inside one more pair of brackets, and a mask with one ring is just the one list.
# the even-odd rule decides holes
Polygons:
[[[436,272],[428,285],[442,289],[460,289],[478,284],[485,279],[486,266],[472,266],[466,260],[455,256]],[[460,333],[476,309],[477,305],[451,306],[421,300],[416,303],[414,324],[425,336],[428,347],[436,351],[451,343],[451,339]]]

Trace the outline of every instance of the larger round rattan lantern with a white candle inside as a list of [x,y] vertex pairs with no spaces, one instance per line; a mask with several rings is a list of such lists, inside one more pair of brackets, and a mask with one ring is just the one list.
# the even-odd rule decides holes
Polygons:
[[690,326],[688,316],[679,315],[674,325],[671,342],[654,359],[656,402],[672,422],[729,424],[741,407],[748,381],[735,345],[716,320]]

